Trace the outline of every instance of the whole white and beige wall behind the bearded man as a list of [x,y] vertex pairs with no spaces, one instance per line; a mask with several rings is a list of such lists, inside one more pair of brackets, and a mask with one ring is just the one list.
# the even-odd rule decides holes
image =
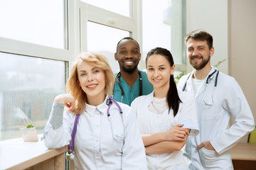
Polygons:
[[[213,35],[211,65],[238,81],[256,118],[256,1],[187,0],[186,33],[203,28]],[[192,70],[187,62],[188,72]],[[255,119],[256,120],[256,119]],[[233,122],[233,120],[231,121]],[[246,141],[246,137],[242,140]]]

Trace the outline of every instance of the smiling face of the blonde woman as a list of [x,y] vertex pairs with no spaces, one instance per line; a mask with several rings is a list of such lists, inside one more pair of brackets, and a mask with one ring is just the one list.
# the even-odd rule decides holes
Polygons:
[[92,62],[78,63],[78,84],[87,96],[87,101],[102,101],[105,98],[105,72]]

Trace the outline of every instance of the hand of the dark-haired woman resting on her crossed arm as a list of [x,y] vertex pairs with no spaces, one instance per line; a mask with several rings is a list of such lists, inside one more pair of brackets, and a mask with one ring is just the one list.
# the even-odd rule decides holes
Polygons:
[[182,128],[183,125],[178,124],[165,132],[166,140],[184,141],[188,136],[188,129]]

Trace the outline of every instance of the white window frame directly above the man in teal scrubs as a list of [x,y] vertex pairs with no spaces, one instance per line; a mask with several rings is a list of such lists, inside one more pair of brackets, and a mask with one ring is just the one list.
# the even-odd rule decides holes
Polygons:
[[[99,23],[120,30],[129,31],[130,36],[139,42],[142,48],[142,0],[130,0],[131,17],[80,2],[80,51],[87,51],[87,22]],[[142,50],[142,49],[141,49]],[[140,65],[142,65],[142,60]],[[143,64],[144,66],[144,64]]]

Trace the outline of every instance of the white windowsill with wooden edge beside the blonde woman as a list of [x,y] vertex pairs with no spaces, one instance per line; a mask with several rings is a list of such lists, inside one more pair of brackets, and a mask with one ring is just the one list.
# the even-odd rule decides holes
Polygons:
[[68,150],[68,146],[48,149],[40,140],[41,136],[38,135],[37,142],[23,142],[22,137],[0,141],[0,169],[27,169]]

